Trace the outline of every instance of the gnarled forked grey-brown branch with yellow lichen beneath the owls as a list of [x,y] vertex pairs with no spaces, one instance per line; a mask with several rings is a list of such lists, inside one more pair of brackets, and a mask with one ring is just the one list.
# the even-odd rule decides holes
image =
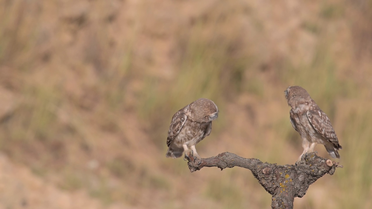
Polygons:
[[321,158],[317,152],[302,156],[297,165],[277,165],[262,163],[256,158],[242,158],[230,152],[216,157],[202,158],[202,162],[194,162],[192,155],[186,155],[190,171],[198,171],[203,167],[232,168],[239,166],[251,170],[252,174],[267,192],[272,195],[272,209],[292,209],[295,197],[303,197],[310,184],[328,173],[332,175],[337,162]]

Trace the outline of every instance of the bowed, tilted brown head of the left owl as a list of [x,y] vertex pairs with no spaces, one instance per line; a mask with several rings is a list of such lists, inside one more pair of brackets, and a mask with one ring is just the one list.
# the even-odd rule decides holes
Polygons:
[[208,123],[218,118],[218,107],[209,99],[198,99],[190,104],[190,116],[199,123]]

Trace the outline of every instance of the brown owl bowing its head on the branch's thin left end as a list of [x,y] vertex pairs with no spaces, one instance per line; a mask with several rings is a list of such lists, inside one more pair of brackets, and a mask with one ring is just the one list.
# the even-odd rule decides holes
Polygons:
[[217,105],[209,99],[198,99],[178,110],[169,126],[166,157],[178,158],[184,151],[191,152],[200,164],[195,145],[211,133],[212,120],[217,117]]

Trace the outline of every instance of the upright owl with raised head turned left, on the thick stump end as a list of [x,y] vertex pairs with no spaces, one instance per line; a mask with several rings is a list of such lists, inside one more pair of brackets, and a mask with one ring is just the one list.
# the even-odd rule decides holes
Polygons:
[[290,86],[285,92],[288,105],[289,120],[293,128],[301,135],[304,152],[314,151],[317,144],[323,144],[331,157],[340,158],[341,145],[327,115],[311,99],[305,89],[300,86]]

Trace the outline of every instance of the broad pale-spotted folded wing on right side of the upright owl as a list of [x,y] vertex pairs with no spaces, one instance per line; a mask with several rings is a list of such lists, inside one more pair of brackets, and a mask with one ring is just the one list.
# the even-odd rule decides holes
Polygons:
[[339,139],[337,139],[336,133],[331,125],[331,121],[328,116],[322,110],[314,111],[308,110],[307,118],[309,119],[312,127],[325,139],[332,142],[336,148],[341,149]]

